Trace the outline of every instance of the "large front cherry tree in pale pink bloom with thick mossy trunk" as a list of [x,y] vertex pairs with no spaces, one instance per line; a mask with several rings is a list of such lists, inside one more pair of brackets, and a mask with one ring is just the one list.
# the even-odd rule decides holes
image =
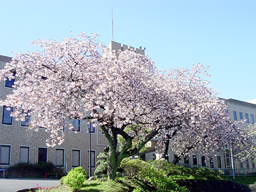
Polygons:
[[[147,56],[124,51],[117,57],[95,36],[81,33],[61,42],[31,42],[43,51],[18,53],[1,70],[1,80],[14,78],[13,72],[17,79],[13,93],[1,105],[13,107],[17,120],[31,116],[30,129],[46,128],[51,147],[63,142],[65,119],[98,122],[109,141],[108,179],[115,179],[122,159],[156,136],[161,114],[170,113],[172,102],[166,99],[161,76]],[[131,131],[125,131],[127,127]],[[118,136],[125,139],[120,152]],[[132,147],[134,136],[140,136],[136,147]]]

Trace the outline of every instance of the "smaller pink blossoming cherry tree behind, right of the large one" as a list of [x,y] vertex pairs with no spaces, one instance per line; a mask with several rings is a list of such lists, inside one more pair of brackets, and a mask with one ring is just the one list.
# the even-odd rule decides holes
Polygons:
[[246,142],[241,123],[232,123],[224,100],[216,97],[209,82],[202,79],[209,76],[207,69],[198,64],[191,70],[177,68],[164,74],[165,89],[175,98],[175,116],[159,135],[159,142],[162,158],[168,159],[169,148],[175,154],[173,164],[191,152],[212,156],[225,147],[237,148],[237,143]]

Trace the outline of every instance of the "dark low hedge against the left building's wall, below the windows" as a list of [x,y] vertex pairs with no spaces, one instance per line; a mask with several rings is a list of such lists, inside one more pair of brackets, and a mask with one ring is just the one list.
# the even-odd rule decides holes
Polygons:
[[7,169],[6,177],[17,178],[61,178],[64,172],[61,168],[56,168],[51,162],[47,163],[17,163]]

